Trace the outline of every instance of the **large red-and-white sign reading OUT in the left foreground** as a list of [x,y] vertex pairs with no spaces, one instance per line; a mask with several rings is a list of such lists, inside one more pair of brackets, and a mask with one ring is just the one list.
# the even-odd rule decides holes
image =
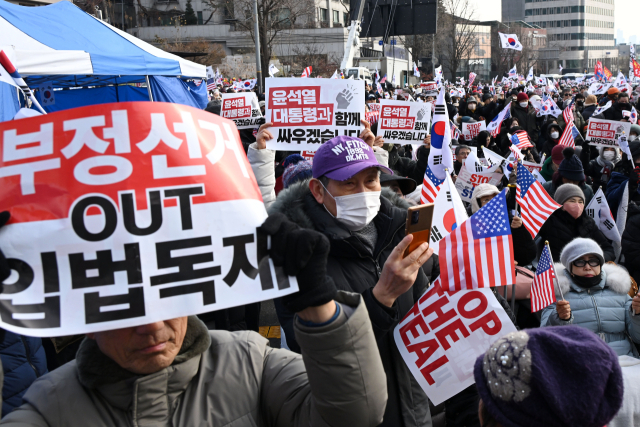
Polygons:
[[267,213],[230,120],[102,104],[0,123],[0,143],[4,329],[84,334],[297,291],[266,256]]

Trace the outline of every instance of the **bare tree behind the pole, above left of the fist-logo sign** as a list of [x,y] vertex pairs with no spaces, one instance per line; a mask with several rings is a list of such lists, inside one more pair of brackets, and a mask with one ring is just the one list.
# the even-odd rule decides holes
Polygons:
[[[315,21],[315,4],[313,0],[257,1],[260,64],[264,78],[277,37],[282,31],[302,27],[302,21]],[[234,0],[233,10],[229,12],[236,20],[236,29],[249,34],[255,41],[253,2],[254,0]]]

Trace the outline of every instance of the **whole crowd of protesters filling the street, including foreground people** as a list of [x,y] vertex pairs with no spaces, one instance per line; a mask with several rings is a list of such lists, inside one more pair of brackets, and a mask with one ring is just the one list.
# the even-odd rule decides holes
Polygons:
[[[453,124],[488,124],[509,103],[510,118],[495,136],[483,131],[471,141],[453,140],[452,178],[472,149],[480,159],[486,150],[508,158],[511,135],[524,131],[533,145],[522,150],[524,159],[542,166],[544,189],[561,206],[532,237],[516,206],[515,171],[497,186],[477,186],[466,206],[471,215],[508,188],[518,278],[513,288],[493,289],[518,332],[476,360],[474,385],[434,406],[393,337],[440,272],[427,244],[403,257],[412,240],[405,236],[407,208],[420,200],[430,137],[420,146],[387,143],[376,137],[375,123],[363,120],[362,160],[346,162],[346,153],[331,150],[355,139],[346,136],[324,143],[311,160],[267,149],[273,135],[265,123],[240,137],[269,213],[262,229],[271,236],[270,255],[300,286],[274,301],[283,348],[252,332],[260,304],[86,337],[41,340],[5,331],[0,424],[639,425],[640,126],[631,126],[630,155],[590,146],[585,136],[592,118],[631,120],[625,112],[640,109],[640,87],[596,97],[587,84],[556,85],[549,96],[561,109],[573,106],[575,147],[560,144],[562,114],[536,111],[532,101],[541,97],[530,85],[464,88],[463,96],[445,96]],[[410,86],[366,89],[367,111],[381,99],[436,97]],[[210,93],[208,112],[220,114],[225,91],[235,92],[221,86]],[[258,99],[264,114],[264,94]],[[594,115],[608,101],[611,107]],[[585,211],[599,189],[620,242]],[[7,220],[0,214],[0,226]],[[531,313],[545,242],[556,262],[557,303]],[[4,257],[0,270],[0,278],[9,276]]]

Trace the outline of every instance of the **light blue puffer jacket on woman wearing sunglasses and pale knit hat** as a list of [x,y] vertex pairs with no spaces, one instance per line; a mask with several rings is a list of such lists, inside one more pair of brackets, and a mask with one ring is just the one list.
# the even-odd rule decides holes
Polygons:
[[[591,289],[576,285],[569,272],[560,263],[555,264],[558,284],[564,299],[571,307],[569,320],[558,317],[556,304],[542,311],[541,326],[578,325],[587,328],[611,346],[618,356],[634,356],[628,336],[640,342],[640,314],[631,312],[631,297],[627,295],[631,287],[629,274],[613,264],[602,266],[602,280]],[[556,299],[562,299],[556,284]]]

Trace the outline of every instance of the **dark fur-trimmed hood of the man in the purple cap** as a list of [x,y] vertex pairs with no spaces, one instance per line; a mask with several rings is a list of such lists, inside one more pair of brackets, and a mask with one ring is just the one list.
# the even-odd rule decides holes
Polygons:
[[[305,179],[282,190],[278,194],[276,201],[269,208],[269,214],[279,212],[300,227],[315,229],[313,221],[305,209],[305,198],[311,193],[309,181],[309,179]],[[381,197],[384,197],[391,205],[399,209],[406,210],[410,206],[407,200],[386,187],[382,188]]]

